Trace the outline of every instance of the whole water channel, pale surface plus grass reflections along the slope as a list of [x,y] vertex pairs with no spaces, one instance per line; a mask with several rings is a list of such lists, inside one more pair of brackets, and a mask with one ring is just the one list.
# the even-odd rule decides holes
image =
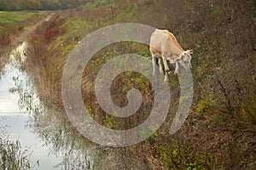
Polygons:
[[56,116],[63,114],[40,104],[31,80],[20,70],[26,60],[25,50],[26,42],[10,54],[3,68],[1,126],[9,139],[19,139],[24,150],[32,150],[31,160],[34,164],[39,160],[39,169],[92,169],[92,154],[78,145],[84,142],[74,138],[72,131],[67,132],[65,124],[62,126],[59,121],[64,117]]

